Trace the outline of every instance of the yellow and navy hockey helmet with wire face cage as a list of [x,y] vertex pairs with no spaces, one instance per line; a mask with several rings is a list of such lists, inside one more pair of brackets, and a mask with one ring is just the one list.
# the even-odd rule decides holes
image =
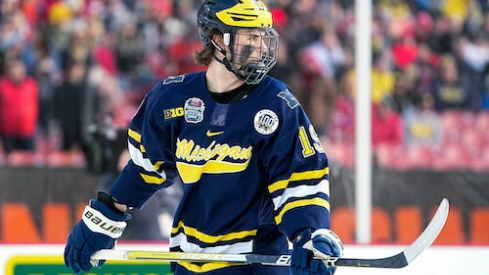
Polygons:
[[[215,47],[223,55],[221,62],[247,84],[258,84],[277,62],[279,35],[273,29],[272,14],[261,0],[205,0],[197,13],[200,41],[205,47]],[[243,61],[245,54],[235,52],[240,45],[239,29],[258,29],[266,45],[260,49],[261,60]],[[228,51],[219,47],[212,39],[218,31],[224,36]],[[252,49],[250,45],[244,46]],[[229,54],[229,56],[227,55]]]

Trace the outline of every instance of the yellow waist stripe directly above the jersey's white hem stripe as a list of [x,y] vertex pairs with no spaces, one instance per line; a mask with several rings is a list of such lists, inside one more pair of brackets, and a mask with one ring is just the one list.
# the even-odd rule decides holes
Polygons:
[[253,230],[245,230],[245,231],[239,231],[239,232],[231,232],[223,235],[217,235],[217,236],[212,236],[203,232],[198,231],[196,228],[189,227],[183,224],[182,221],[178,223],[177,227],[173,227],[171,232],[172,234],[178,233],[180,229],[183,229],[183,232],[187,236],[194,237],[198,239],[201,242],[208,243],[208,244],[214,244],[217,242],[225,242],[225,241],[232,241],[232,240],[241,240],[247,237],[253,237],[256,236],[256,229]]

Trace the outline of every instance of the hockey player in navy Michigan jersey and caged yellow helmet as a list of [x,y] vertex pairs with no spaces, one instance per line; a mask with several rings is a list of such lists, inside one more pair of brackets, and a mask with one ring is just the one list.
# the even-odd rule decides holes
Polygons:
[[275,255],[293,246],[291,268],[178,262],[176,275],[333,274],[313,257],[343,250],[328,229],[328,160],[293,92],[267,76],[279,45],[270,12],[257,0],[205,0],[197,17],[204,49],[195,57],[208,69],[147,94],[128,130],[132,160],[110,194],[90,200],[66,265],[88,271],[90,256],[121,236],[128,210],[180,178],[170,250]]

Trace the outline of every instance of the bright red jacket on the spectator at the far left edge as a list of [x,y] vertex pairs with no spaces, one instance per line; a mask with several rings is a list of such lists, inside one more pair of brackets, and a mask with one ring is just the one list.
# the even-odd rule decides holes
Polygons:
[[0,136],[32,137],[38,116],[38,87],[26,77],[20,83],[0,79]]

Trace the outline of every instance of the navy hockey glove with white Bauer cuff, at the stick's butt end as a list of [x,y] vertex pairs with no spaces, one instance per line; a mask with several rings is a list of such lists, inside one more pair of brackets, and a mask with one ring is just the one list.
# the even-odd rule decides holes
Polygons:
[[[126,221],[131,219],[131,215],[118,211],[112,203],[107,194],[99,193],[98,200],[90,200],[81,220],[71,231],[64,259],[65,265],[75,273],[90,270],[90,257],[96,251],[113,248],[126,227]],[[99,261],[96,265],[100,267],[104,263]]]

